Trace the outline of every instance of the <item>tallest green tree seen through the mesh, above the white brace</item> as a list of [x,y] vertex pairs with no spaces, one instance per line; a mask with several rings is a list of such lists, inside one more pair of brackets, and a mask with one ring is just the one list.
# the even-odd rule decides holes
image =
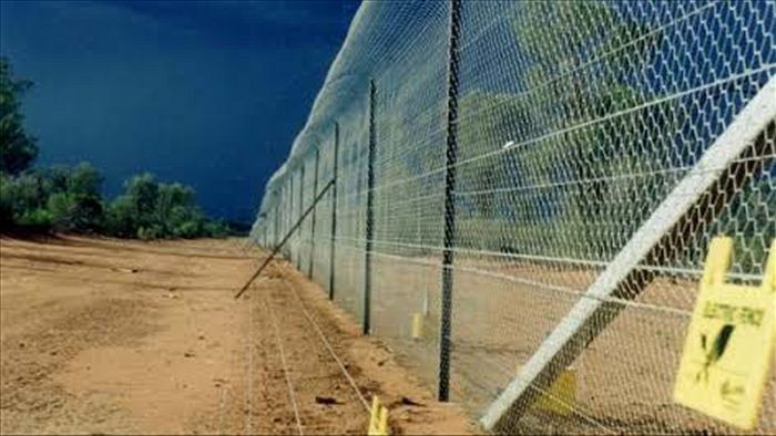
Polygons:
[[670,186],[655,174],[671,165],[661,154],[673,139],[674,103],[640,108],[657,96],[632,84],[661,35],[592,1],[521,3],[512,29],[529,65],[522,81],[531,95],[530,137],[548,136],[520,154],[540,168],[527,184],[542,185],[548,175],[564,184],[555,189],[561,215],[552,219],[563,221],[565,237],[554,253],[609,258]]

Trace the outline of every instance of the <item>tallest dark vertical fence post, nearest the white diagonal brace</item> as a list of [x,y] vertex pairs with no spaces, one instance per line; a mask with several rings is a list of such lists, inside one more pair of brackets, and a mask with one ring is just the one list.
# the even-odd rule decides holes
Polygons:
[[461,0],[450,2],[450,44],[447,92],[447,162],[445,172],[445,240],[442,251],[442,308],[439,329],[439,401],[450,399],[452,345],[452,248],[456,245],[456,160],[458,158],[458,64]]

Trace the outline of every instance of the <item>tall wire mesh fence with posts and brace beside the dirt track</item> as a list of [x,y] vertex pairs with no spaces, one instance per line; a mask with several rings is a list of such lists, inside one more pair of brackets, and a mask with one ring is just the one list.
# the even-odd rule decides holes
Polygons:
[[775,76],[774,1],[366,2],[253,236],[335,180],[284,255],[496,429],[732,433],[672,388],[711,238],[776,237]]

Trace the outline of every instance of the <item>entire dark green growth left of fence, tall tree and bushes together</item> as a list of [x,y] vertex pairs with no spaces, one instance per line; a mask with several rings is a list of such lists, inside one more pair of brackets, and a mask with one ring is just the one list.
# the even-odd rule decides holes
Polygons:
[[223,238],[228,226],[212,221],[188,186],[160,184],[144,173],[124,184],[113,201],[102,199],[103,176],[91,164],[31,168],[35,139],[22,126],[20,97],[31,86],[13,77],[0,58],[0,230],[102,232],[121,238]]

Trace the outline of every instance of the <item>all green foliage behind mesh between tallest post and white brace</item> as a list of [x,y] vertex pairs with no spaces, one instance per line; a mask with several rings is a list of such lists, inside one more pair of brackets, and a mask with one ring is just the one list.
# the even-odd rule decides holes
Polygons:
[[458,240],[609,258],[612,235],[632,233],[672,186],[657,154],[681,121],[672,102],[639,108],[658,96],[634,80],[661,34],[603,2],[524,2],[509,20],[520,92],[471,87],[459,100]]

